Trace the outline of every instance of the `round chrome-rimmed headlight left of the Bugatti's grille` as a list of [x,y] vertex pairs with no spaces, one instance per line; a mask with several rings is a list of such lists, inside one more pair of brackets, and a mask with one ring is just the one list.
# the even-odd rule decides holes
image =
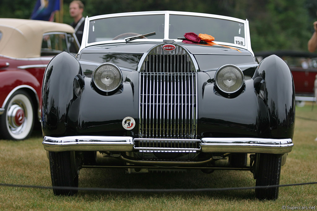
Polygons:
[[122,72],[113,64],[99,65],[94,70],[92,78],[96,87],[105,92],[114,91],[122,84]]

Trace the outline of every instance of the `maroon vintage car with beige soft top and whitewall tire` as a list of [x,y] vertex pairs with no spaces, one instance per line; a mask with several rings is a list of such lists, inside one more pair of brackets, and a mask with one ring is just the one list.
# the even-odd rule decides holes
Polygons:
[[62,23],[0,18],[0,139],[27,138],[40,118],[45,68],[56,54],[74,55],[74,29]]

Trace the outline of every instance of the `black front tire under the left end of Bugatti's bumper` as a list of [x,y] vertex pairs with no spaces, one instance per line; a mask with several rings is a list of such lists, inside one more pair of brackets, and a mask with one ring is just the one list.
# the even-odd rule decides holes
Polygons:
[[[55,195],[74,195],[78,192],[79,160],[75,152],[49,152],[49,167]],[[73,187],[74,189],[54,187]]]

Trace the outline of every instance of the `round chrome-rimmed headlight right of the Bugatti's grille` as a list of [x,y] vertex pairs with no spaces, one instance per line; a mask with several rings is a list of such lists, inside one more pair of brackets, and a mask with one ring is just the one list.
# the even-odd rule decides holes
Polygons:
[[244,84],[243,72],[235,65],[224,65],[217,70],[215,82],[221,91],[234,93]]

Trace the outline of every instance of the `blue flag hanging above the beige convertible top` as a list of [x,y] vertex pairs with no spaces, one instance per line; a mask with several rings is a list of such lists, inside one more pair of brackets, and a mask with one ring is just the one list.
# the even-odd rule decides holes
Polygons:
[[36,0],[30,19],[53,21],[57,10],[60,10],[60,0]]

